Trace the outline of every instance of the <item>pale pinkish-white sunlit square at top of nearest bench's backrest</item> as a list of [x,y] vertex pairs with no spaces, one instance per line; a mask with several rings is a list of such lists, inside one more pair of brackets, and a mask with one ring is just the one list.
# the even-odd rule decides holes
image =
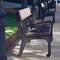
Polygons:
[[27,17],[31,15],[30,8],[28,7],[28,8],[19,10],[19,15],[20,15],[21,20],[26,19]]

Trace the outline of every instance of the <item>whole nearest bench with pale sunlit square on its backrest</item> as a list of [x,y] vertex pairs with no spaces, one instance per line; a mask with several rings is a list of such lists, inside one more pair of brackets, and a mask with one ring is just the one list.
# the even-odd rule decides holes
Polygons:
[[24,8],[16,11],[16,19],[20,37],[22,39],[19,55],[21,56],[24,47],[31,39],[44,39],[48,42],[48,54],[51,55],[52,24],[51,22],[32,23],[30,8]]

